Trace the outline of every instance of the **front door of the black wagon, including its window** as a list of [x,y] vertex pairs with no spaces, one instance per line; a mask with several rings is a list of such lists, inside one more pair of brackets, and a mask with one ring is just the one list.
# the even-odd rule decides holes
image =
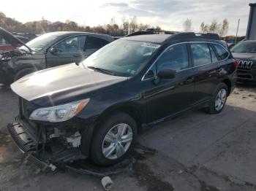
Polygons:
[[[187,109],[192,103],[194,71],[190,67],[187,44],[168,47],[146,74],[147,119],[154,122]],[[176,70],[174,79],[150,77],[157,71],[168,68]],[[157,79],[158,80],[158,79]]]

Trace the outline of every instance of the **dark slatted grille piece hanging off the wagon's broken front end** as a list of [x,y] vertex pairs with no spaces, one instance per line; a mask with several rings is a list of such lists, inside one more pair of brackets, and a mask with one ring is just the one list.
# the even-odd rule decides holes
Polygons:
[[7,129],[12,136],[13,141],[23,152],[35,151],[36,146],[28,133],[23,129],[23,126],[18,122],[13,122],[7,125]]

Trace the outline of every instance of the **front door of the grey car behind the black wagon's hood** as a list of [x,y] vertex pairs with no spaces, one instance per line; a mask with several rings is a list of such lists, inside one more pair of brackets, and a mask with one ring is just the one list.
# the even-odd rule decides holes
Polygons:
[[79,63],[83,60],[85,52],[86,35],[71,36],[62,39],[53,47],[54,52],[50,49],[46,53],[47,67],[59,66],[66,63]]

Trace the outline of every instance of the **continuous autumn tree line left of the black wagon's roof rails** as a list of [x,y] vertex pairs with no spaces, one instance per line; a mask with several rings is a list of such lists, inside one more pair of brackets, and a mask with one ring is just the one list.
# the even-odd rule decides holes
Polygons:
[[65,23],[61,21],[51,22],[45,20],[31,21],[27,23],[20,23],[19,21],[7,17],[3,12],[0,12],[0,26],[10,32],[31,33],[31,34],[44,34],[52,31],[84,31],[100,34],[110,34],[116,36],[124,36],[135,31],[144,31],[148,28],[157,28],[159,26],[150,26],[148,24],[138,23],[136,16],[122,17],[121,25],[116,23],[115,17],[110,20],[110,23],[99,26],[81,26],[72,20],[66,20]]

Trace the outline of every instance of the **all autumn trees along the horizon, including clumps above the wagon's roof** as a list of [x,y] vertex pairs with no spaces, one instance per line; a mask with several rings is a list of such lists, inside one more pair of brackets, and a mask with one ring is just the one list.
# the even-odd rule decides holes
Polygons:
[[[82,26],[72,20],[66,20],[66,22],[56,21],[51,22],[45,20],[36,20],[26,23],[21,23],[11,17],[7,17],[3,12],[0,12],[0,26],[10,32],[31,33],[31,34],[44,34],[52,31],[85,31],[100,34],[110,34],[113,36],[124,36],[135,31],[145,31],[147,29],[157,29],[161,31],[159,26],[151,26],[148,24],[139,23],[136,16],[134,17],[122,17],[121,25],[116,23],[115,17],[110,20],[110,23],[99,26]],[[192,28],[192,19],[187,18],[183,23],[184,31],[194,31]],[[225,36],[229,28],[227,19],[222,23],[217,23],[217,20],[213,20],[210,24],[201,23],[200,33],[217,33],[219,36]]]

